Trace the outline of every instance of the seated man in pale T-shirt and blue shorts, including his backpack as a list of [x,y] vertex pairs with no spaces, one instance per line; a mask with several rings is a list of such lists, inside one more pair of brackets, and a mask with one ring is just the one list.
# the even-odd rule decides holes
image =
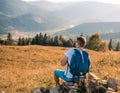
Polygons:
[[[74,82],[79,81],[79,76],[84,78],[86,77],[86,73],[89,72],[90,68],[90,59],[88,53],[83,50],[85,45],[86,38],[84,36],[77,37],[77,41],[75,43],[76,48],[65,52],[65,56],[61,61],[61,66],[67,65],[67,68],[66,70],[54,71],[54,80],[56,85],[60,84],[59,78],[66,82]],[[75,62],[72,62],[72,60]],[[79,62],[77,62],[78,60]],[[75,67],[73,65],[75,65]]]

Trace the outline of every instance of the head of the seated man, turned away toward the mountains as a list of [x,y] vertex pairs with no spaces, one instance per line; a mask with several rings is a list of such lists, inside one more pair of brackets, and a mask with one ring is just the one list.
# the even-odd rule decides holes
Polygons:
[[83,48],[86,45],[86,38],[84,36],[77,37],[77,41],[75,43],[76,48]]

